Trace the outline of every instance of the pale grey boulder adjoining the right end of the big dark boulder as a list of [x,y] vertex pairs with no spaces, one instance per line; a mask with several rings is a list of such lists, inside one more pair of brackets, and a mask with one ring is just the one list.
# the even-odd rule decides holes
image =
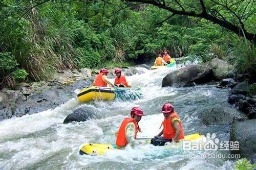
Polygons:
[[207,65],[212,68],[212,73],[217,80],[229,78],[232,76],[234,66],[225,60],[214,58],[207,62]]

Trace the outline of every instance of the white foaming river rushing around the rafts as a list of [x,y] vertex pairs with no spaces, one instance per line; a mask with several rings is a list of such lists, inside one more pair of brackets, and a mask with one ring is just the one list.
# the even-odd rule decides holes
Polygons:
[[[205,126],[198,115],[213,105],[228,106],[228,89],[215,85],[161,88],[163,77],[176,68],[147,70],[127,77],[133,86],[141,86],[143,98],[136,101],[93,101],[79,104],[76,99],[55,109],[13,117],[0,122],[0,169],[232,169],[234,161],[227,158],[185,157],[186,154],[208,154],[209,151],[165,151],[163,147],[145,144],[127,147],[121,154],[108,156],[79,155],[83,143],[114,143],[115,132],[134,106],[146,116],[139,125],[139,137],[159,133],[163,120],[161,107],[172,103],[179,113],[185,134],[216,133],[220,140],[229,140],[229,126]],[[77,92],[77,91],[74,91]],[[98,119],[62,124],[66,116],[78,107],[90,107]],[[228,154],[212,151],[211,154]]]

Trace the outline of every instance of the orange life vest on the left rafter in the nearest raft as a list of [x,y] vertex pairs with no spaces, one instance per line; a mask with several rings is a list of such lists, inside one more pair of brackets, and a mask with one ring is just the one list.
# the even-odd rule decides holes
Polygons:
[[137,136],[137,133],[139,131],[139,126],[136,120],[134,118],[126,117],[125,119],[123,119],[123,122],[118,130],[117,137],[116,137],[116,145],[118,145],[119,147],[124,147],[126,144],[128,144],[125,136],[125,130],[126,130],[126,126],[131,122],[134,123],[135,129],[136,129],[134,138],[136,138]]

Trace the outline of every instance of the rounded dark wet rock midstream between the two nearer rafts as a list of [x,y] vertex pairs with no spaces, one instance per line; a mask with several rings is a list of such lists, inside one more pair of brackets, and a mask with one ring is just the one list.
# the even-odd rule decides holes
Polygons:
[[73,113],[69,114],[63,124],[68,124],[71,122],[85,122],[86,120],[96,118],[95,112],[90,108],[78,108]]

